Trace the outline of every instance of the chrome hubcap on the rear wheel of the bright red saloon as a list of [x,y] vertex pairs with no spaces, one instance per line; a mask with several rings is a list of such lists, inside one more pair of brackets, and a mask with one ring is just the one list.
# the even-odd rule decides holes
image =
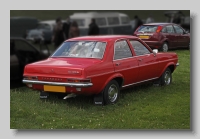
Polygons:
[[110,102],[115,102],[118,96],[117,86],[112,84],[108,89],[108,98]]

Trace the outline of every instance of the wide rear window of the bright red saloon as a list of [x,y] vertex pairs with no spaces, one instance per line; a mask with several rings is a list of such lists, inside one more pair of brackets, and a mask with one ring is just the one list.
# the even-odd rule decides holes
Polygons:
[[64,42],[51,57],[79,57],[102,59],[105,48],[105,42],[68,41]]

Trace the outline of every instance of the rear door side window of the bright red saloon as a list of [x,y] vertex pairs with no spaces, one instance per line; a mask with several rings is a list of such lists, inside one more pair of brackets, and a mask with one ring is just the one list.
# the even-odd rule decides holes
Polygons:
[[114,53],[115,60],[133,56],[129,48],[129,45],[125,40],[115,42],[114,47],[115,47],[115,53]]

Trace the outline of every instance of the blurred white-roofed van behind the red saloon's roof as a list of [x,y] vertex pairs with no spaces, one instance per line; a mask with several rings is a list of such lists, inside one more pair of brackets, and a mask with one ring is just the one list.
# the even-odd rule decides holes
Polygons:
[[118,12],[86,12],[74,13],[70,16],[71,21],[76,21],[80,29],[80,35],[88,35],[91,19],[96,20],[100,35],[122,34],[131,35],[131,25],[128,15]]

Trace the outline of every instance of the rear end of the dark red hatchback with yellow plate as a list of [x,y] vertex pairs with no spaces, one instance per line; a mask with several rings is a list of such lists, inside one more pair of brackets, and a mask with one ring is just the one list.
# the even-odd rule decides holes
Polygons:
[[142,39],[152,49],[160,49],[164,40],[162,29],[161,24],[144,24],[139,26],[133,35]]

